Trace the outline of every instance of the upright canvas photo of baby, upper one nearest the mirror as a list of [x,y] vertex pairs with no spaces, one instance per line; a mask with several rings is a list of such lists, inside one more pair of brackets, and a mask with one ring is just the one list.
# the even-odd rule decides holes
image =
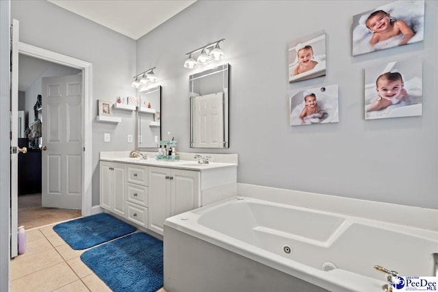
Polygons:
[[324,31],[289,43],[289,83],[326,75]]

